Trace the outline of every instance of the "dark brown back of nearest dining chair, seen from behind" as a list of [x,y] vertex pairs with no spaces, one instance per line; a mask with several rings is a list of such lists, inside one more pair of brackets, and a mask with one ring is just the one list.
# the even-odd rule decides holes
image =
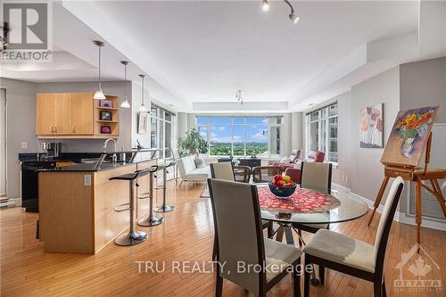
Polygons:
[[265,260],[256,186],[215,178],[208,179],[208,186],[218,238],[217,259],[225,264],[218,273],[258,293],[260,284],[265,283],[265,274],[253,269],[243,271],[238,266],[261,265]]

